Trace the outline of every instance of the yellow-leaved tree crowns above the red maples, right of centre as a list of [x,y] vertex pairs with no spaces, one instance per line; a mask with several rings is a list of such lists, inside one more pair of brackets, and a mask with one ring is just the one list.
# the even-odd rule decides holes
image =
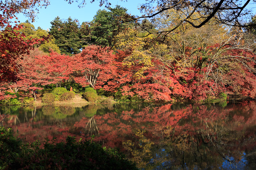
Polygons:
[[[188,13],[192,10],[188,9]],[[188,20],[197,25],[204,20],[200,15],[200,12],[194,12]],[[208,46],[227,39],[226,28],[217,24],[216,20],[210,20],[201,28],[194,28],[187,22],[181,23],[186,18],[187,15],[181,11],[164,11],[156,17],[155,28],[149,30],[153,34],[134,27],[127,28],[115,37],[117,43],[114,50],[131,52],[131,55],[124,59],[124,65],[129,68],[137,66],[134,78],[144,78],[145,71],[154,67],[154,59],[169,66],[176,63],[181,70],[193,67],[198,64],[202,55],[207,54]],[[165,32],[175,27],[176,30]],[[154,34],[159,31],[165,33]]]

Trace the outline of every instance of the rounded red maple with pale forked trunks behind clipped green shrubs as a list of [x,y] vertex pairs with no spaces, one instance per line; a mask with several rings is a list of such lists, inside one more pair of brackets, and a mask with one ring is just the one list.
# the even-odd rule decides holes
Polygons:
[[[108,47],[87,46],[75,56],[74,80],[85,86],[101,88],[116,72],[115,55]],[[100,80],[100,81],[98,81]]]

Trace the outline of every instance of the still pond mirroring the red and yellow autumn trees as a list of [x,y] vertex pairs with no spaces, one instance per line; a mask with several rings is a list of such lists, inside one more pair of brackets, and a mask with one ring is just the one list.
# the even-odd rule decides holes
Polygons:
[[141,169],[255,169],[256,103],[0,107],[25,142],[67,136],[118,148]]

